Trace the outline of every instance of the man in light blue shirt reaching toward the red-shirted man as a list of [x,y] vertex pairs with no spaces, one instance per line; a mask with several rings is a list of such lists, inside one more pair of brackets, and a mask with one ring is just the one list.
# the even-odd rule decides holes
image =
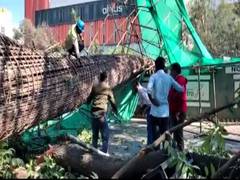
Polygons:
[[152,102],[150,120],[154,140],[169,128],[168,94],[171,87],[178,92],[184,90],[169,74],[164,72],[164,69],[165,59],[158,57],[155,61],[155,73],[150,77],[147,86],[148,96]]

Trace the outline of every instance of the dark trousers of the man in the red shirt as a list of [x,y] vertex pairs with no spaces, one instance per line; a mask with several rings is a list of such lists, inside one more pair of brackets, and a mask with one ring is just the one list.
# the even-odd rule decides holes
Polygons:
[[[186,113],[184,112],[170,114],[170,123],[172,127],[183,123],[185,119],[186,119]],[[177,148],[180,151],[183,151],[184,150],[183,128],[176,130],[173,133],[173,138],[177,143]]]

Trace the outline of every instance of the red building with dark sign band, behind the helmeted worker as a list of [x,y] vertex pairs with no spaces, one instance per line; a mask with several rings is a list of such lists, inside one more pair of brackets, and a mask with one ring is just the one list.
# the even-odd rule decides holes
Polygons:
[[[69,28],[75,23],[71,12],[75,10],[77,16],[85,22],[84,41],[89,46],[95,37],[95,42],[99,45],[114,45],[122,38],[127,30],[126,17],[133,11],[134,7],[116,5],[113,7],[113,13],[110,13],[108,0],[84,0],[84,1],[62,1],[62,0],[25,0],[25,17],[32,20],[36,26],[47,24],[56,39],[63,42],[66,39]],[[133,3],[130,0],[129,3]],[[80,4],[79,4],[80,3]],[[106,19],[106,20],[105,20]],[[136,27],[132,34],[140,35],[140,29]],[[137,42],[137,38],[129,34],[123,39],[123,43]]]

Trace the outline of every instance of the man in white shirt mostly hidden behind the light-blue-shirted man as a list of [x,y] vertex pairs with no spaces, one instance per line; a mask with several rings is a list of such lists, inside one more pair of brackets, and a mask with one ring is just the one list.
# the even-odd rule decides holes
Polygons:
[[139,102],[142,107],[146,106],[147,107],[147,144],[152,144],[153,143],[153,133],[152,133],[152,123],[150,121],[150,107],[151,107],[151,101],[148,97],[147,89],[143,87],[139,82],[137,82],[136,89],[138,91],[139,95]]

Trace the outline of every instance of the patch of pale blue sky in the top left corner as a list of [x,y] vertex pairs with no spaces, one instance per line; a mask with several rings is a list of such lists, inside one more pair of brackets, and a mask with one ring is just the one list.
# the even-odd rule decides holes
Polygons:
[[7,8],[12,13],[15,27],[24,19],[24,0],[0,0],[0,8]]

